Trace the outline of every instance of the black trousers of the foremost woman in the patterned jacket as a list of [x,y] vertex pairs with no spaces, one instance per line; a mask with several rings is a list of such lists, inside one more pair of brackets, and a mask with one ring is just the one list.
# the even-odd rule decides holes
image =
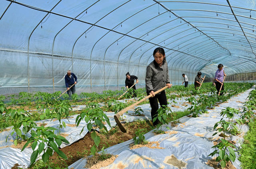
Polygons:
[[[149,95],[149,93],[147,93]],[[150,106],[151,106],[151,118],[152,121],[155,117],[158,116],[158,101],[160,106],[167,105],[167,98],[165,91],[160,92],[160,94],[156,94],[156,96],[149,98]],[[157,125],[159,123],[159,120],[157,119],[155,122],[153,122],[153,125]]]

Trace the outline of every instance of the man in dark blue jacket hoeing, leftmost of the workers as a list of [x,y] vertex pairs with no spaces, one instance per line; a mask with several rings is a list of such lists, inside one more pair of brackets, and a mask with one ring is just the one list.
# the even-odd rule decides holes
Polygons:
[[[72,94],[74,94],[76,92],[76,87],[75,85],[72,86],[73,84],[77,83],[77,77],[74,73],[71,73],[70,70],[67,71],[67,74],[65,75],[65,84],[67,87],[67,93],[68,95],[71,97]],[[70,88],[70,86],[72,86]]]

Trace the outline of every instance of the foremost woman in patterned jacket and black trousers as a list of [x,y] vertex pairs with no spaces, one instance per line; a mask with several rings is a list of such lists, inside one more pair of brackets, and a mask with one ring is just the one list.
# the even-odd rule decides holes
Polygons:
[[[158,94],[154,94],[157,90],[163,88],[164,86],[168,86],[170,88],[172,84],[170,84],[169,79],[169,71],[168,65],[165,59],[165,52],[162,47],[158,47],[153,52],[154,61],[152,61],[147,69],[146,69],[146,92],[148,95],[152,94],[153,97],[149,98],[150,106],[151,106],[151,117],[153,118],[158,116],[158,101],[160,106],[167,106],[167,98],[165,91]],[[156,126],[159,123],[157,119],[153,122],[153,125]]]

